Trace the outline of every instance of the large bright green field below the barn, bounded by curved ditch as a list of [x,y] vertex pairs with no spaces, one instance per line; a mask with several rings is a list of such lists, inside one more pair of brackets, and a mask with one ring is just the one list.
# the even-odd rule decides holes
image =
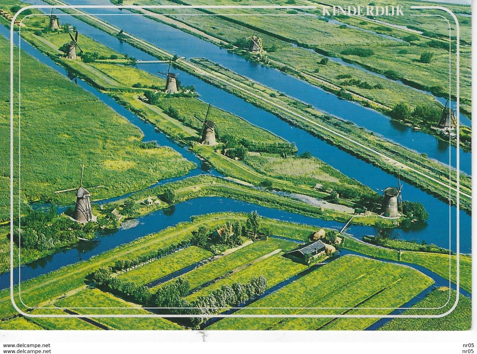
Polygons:
[[[432,283],[430,278],[411,268],[362,257],[344,256],[250,304],[236,314],[342,314],[346,308],[361,305],[398,307]],[[344,309],[319,310],[311,307]],[[392,309],[384,310],[384,313],[391,311]],[[361,323],[363,319],[359,320]],[[207,329],[316,330],[331,324],[331,321],[332,318],[225,318]],[[343,326],[335,327],[334,329],[347,329]]]

